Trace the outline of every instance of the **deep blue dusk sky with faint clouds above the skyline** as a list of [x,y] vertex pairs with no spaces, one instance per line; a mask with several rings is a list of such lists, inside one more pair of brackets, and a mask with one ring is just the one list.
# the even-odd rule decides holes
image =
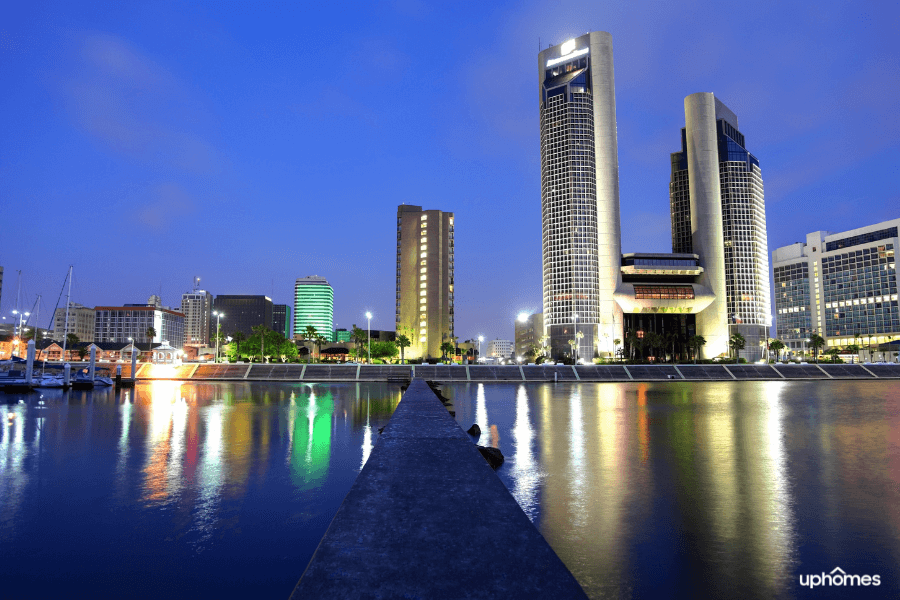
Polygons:
[[[396,211],[456,215],[456,335],[541,310],[537,53],[612,34],[623,252],[671,251],[684,97],[737,115],[769,250],[900,217],[895,2],[7,2],[0,207],[11,320],[72,301],[293,304],[394,329]],[[224,324],[223,324],[224,325]],[[227,328],[226,328],[227,331]]]

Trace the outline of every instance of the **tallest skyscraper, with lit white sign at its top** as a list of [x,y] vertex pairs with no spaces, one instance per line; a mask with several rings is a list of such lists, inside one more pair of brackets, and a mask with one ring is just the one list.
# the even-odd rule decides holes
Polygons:
[[568,354],[571,339],[579,356],[611,353],[622,336],[612,36],[541,51],[538,81],[544,327],[553,356]]

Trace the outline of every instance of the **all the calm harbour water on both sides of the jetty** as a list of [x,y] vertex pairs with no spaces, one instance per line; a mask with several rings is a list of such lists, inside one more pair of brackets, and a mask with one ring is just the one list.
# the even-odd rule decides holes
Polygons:
[[[444,391],[593,598],[900,596],[900,382]],[[0,395],[0,598],[286,598],[399,390],[18,398]],[[882,585],[800,588],[835,567]]]

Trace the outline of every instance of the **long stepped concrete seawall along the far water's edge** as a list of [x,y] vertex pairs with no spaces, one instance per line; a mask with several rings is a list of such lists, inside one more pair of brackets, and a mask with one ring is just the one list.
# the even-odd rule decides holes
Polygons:
[[[131,377],[122,365],[122,377]],[[810,379],[900,379],[900,365],[789,364],[789,365],[324,365],[324,364],[143,364],[137,381],[390,381],[405,383],[419,377],[429,381],[769,381]]]

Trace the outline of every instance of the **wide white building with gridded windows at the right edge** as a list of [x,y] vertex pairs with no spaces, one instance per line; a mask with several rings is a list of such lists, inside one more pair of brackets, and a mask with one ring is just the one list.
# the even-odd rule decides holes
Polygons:
[[900,218],[840,233],[816,231],[772,252],[776,335],[793,351],[812,334],[826,347],[900,338],[896,251]]

